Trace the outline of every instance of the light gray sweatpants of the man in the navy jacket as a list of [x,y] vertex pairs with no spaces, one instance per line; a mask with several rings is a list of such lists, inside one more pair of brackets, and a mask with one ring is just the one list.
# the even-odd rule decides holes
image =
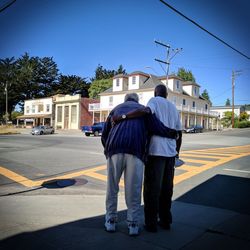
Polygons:
[[115,154],[107,162],[106,220],[117,219],[119,181],[124,172],[127,221],[139,222],[144,163],[131,154]]

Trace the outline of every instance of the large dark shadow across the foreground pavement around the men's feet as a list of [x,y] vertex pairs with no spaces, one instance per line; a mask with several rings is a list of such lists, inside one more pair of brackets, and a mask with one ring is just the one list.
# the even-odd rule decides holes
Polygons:
[[[102,215],[55,225],[42,230],[20,233],[2,240],[0,249],[247,250],[250,249],[250,235],[247,231],[249,223],[245,217],[241,218],[242,221],[239,221],[236,216],[240,216],[238,213],[250,214],[249,197],[250,179],[217,175],[174,202],[174,224],[170,231],[159,230],[156,234],[143,231],[139,237],[129,237],[125,223],[126,211],[121,211],[118,215],[120,222],[116,233],[104,231],[104,215]],[[236,211],[237,213],[227,212],[223,209]],[[202,219],[197,218],[197,216],[202,217]],[[206,216],[208,219],[206,219]],[[197,221],[200,220],[200,224],[194,218]],[[228,224],[227,228],[232,227],[230,233],[220,225],[224,221],[226,223],[227,221],[231,222],[231,218],[235,219],[236,224]],[[46,220],[42,214],[41,220]],[[236,234],[235,231],[237,231]]]

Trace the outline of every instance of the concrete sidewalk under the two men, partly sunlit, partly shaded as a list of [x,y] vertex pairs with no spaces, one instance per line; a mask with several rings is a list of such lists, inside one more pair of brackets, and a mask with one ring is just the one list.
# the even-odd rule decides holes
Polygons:
[[105,195],[14,195],[0,202],[0,249],[250,249],[250,216],[232,210],[174,201],[170,231],[130,237],[123,194],[116,233],[104,231]]

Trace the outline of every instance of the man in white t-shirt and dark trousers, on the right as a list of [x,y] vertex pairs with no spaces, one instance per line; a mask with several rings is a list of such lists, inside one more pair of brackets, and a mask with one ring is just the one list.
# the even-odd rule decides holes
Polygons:
[[[181,131],[179,113],[175,105],[166,98],[166,86],[158,85],[155,88],[155,97],[149,100],[147,106],[165,126]],[[144,176],[145,229],[156,232],[157,224],[164,229],[170,229],[172,223],[176,140],[152,136],[148,154]]]

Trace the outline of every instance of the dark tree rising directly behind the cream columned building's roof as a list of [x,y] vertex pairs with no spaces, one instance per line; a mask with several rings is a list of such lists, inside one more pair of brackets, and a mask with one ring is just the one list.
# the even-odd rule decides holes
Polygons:
[[53,86],[53,94],[81,94],[82,97],[88,97],[89,87],[86,78],[75,75],[60,75],[57,85]]

